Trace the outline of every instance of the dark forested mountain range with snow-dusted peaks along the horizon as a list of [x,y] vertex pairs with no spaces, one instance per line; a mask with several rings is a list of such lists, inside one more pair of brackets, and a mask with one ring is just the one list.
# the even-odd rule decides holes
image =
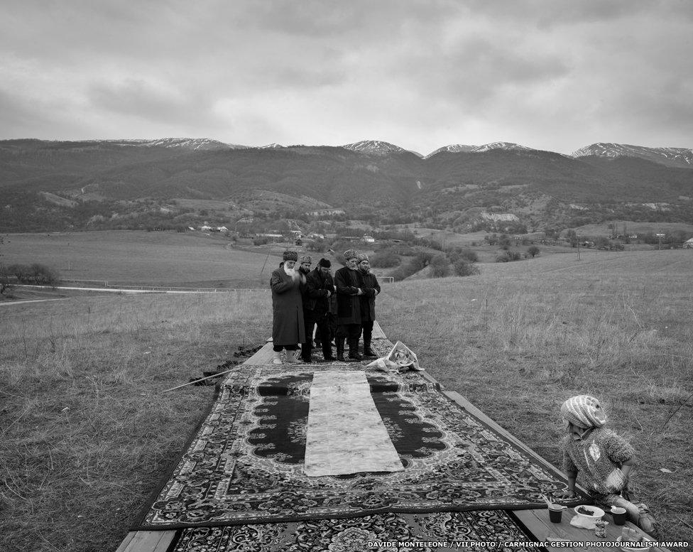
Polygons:
[[[692,169],[691,149],[607,143],[571,156],[508,142],[451,144],[422,156],[378,140],[261,147],[188,138],[6,140],[0,230],[330,210],[458,230],[491,230],[493,221],[515,219],[519,231],[619,218],[691,222]],[[514,219],[482,216],[489,213]]]

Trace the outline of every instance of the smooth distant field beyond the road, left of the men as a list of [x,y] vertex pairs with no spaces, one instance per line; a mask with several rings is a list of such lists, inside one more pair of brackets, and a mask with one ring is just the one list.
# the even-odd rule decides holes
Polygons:
[[266,288],[280,261],[280,249],[240,251],[202,232],[5,234],[3,244],[4,264],[42,263],[63,278],[109,283]]

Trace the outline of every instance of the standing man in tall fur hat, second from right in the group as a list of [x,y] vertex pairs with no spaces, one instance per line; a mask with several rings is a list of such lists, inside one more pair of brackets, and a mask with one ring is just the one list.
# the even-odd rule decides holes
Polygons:
[[344,340],[349,345],[349,358],[361,360],[359,337],[361,336],[361,302],[359,296],[364,292],[359,288],[359,269],[356,265],[359,256],[354,249],[344,251],[346,266],[334,273],[337,286],[337,360],[344,359]]

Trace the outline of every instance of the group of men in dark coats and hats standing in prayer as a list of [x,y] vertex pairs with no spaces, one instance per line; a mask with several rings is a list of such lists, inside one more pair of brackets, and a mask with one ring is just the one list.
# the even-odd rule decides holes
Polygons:
[[[361,360],[361,335],[364,356],[375,357],[371,337],[376,320],[376,296],[381,288],[371,273],[368,256],[347,249],[344,251],[346,266],[337,270],[334,278],[330,271],[332,263],[327,259],[320,259],[312,270],[310,256],[301,256],[296,269],[298,261],[296,251],[284,251],[283,263],[270,279],[273,364],[283,364],[282,350],[286,350],[285,362],[312,362],[312,335],[316,326],[315,344],[320,344],[325,361]],[[333,340],[337,357],[332,355]]]

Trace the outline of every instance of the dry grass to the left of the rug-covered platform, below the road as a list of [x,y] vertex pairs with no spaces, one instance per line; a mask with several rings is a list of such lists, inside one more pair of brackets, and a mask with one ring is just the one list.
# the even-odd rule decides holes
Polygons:
[[209,405],[199,377],[263,342],[266,291],[3,307],[0,550],[113,551]]

